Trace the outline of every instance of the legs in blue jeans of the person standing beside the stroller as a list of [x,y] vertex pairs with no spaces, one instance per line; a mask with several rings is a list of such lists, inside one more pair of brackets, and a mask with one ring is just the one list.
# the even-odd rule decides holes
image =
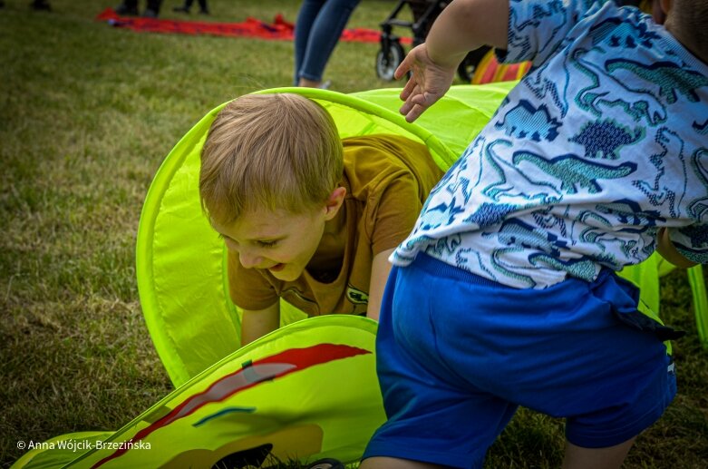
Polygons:
[[344,26],[360,0],[305,0],[295,27],[297,86],[319,87]]

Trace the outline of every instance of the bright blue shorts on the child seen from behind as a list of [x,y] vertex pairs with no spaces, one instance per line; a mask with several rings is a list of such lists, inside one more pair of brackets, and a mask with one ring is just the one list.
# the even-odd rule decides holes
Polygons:
[[621,318],[640,314],[637,299],[610,271],[534,290],[423,254],[394,267],[376,338],[388,421],[364,458],[481,467],[518,405],[565,417],[567,440],[581,447],[638,435],[676,382],[655,331]]

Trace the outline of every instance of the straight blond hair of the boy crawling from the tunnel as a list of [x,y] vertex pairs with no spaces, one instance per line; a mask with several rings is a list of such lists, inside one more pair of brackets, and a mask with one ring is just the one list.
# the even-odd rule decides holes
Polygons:
[[223,224],[250,210],[302,213],[327,200],[343,171],[342,141],[322,106],[297,94],[247,94],[211,124],[199,196]]

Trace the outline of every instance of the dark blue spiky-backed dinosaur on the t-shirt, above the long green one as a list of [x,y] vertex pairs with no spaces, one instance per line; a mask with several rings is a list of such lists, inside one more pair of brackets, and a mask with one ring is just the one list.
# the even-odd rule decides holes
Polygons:
[[583,145],[586,158],[616,160],[622,147],[639,142],[644,136],[645,131],[641,127],[631,130],[612,119],[606,119],[587,122],[580,132],[570,138],[570,142]]

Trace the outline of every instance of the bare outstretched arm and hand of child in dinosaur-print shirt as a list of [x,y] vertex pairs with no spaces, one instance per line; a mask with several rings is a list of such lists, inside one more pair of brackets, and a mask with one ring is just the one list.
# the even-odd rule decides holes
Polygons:
[[415,121],[447,93],[468,52],[484,44],[506,49],[508,32],[509,0],[455,0],[446,6],[425,43],[413,48],[394,73],[400,79],[412,72],[401,93],[406,121]]

